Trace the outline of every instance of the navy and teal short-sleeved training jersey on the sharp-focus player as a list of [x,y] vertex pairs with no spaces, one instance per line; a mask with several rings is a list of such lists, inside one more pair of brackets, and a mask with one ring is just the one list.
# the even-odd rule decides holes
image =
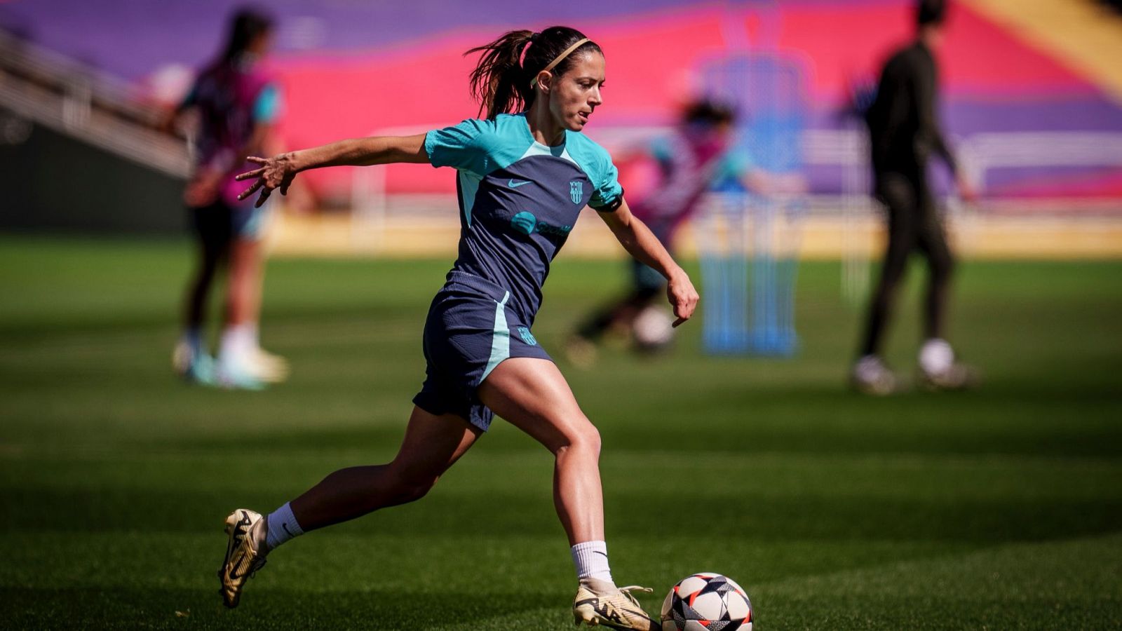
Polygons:
[[425,136],[433,166],[457,168],[460,252],[452,267],[511,292],[532,322],[550,262],[585,205],[615,209],[623,195],[611,157],[583,134],[534,140],[524,113],[469,119]]

